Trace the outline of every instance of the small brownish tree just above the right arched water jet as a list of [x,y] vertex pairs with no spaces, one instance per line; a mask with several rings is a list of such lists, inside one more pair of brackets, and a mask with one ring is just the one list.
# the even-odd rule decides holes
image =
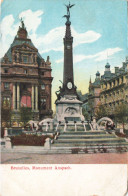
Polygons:
[[100,104],[95,110],[96,119],[100,119],[102,117],[108,116],[107,108]]

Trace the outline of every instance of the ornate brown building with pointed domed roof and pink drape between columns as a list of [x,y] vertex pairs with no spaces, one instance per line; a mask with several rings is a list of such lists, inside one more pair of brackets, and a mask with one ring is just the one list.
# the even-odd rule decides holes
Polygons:
[[19,119],[20,107],[32,109],[33,120],[52,116],[51,62],[45,61],[33,45],[24,22],[9,50],[1,60],[1,98],[13,113],[13,123]]

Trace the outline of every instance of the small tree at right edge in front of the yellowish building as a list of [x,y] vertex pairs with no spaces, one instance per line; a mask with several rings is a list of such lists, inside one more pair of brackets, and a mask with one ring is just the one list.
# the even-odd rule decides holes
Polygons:
[[123,129],[126,122],[128,122],[128,103],[121,103],[115,107],[115,119],[118,123],[122,123]]

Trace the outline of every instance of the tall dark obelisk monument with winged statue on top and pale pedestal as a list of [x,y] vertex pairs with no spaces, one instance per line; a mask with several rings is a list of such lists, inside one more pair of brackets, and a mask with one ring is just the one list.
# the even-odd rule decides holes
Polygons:
[[57,100],[56,104],[56,116],[57,122],[68,121],[84,121],[82,115],[82,102],[77,95],[77,87],[74,84],[73,74],[73,37],[71,35],[71,22],[70,22],[70,8],[73,7],[69,3],[66,5],[67,14],[63,17],[66,18],[66,32],[64,41],[64,70],[63,70],[63,84],[59,87],[60,90],[56,91]]

